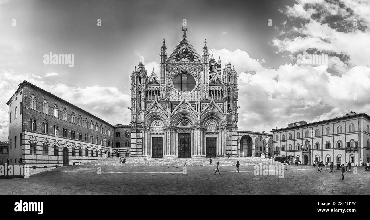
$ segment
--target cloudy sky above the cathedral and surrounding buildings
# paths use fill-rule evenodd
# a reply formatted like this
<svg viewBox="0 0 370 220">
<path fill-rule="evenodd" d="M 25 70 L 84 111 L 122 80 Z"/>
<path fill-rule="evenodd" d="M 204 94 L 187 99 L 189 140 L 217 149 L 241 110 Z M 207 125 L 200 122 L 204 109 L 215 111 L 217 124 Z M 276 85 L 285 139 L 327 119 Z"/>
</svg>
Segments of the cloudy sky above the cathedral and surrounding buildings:
<svg viewBox="0 0 370 220">
<path fill-rule="evenodd" d="M 143 57 L 158 73 L 162 41 L 169 55 L 183 19 L 198 53 L 207 39 L 222 66 L 235 65 L 239 130 L 370 113 L 367 0 L 0 0 L 0 140 L 6 102 L 23 80 L 112 124 L 129 123 L 131 72 Z M 74 54 L 74 67 L 44 64 L 50 52 Z M 327 65 L 299 64 L 304 52 L 327 54 Z"/>
</svg>

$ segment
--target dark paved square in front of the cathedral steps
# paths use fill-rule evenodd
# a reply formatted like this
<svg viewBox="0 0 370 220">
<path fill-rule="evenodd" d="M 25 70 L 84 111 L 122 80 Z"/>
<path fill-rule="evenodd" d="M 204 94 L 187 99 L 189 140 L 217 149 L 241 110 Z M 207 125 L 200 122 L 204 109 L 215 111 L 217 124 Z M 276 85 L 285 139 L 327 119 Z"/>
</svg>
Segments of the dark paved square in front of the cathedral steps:
<svg viewBox="0 0 370 220">
<path fill-rule="evenodd" d="M 354 168 L 354 167 L 353 167 Z M 0 179 L 0 194 L 370 194 L 370 172 L 356 167 L 321 173 L 313 166 L 288 166 L 284 177 L 255 176 L 253 166 L 145 167 L 80 165 L 38 173 L 29 179 Z M 353 169 L 352 169 L 353 170 Z"/>
</svg>

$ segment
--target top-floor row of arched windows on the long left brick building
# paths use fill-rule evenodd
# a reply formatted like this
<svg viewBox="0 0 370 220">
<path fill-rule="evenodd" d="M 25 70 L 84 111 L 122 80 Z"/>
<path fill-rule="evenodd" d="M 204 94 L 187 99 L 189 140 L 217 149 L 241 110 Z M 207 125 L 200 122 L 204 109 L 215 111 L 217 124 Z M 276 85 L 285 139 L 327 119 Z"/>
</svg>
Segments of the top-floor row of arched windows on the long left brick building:
<svg viewBox="0 0 370 220">
<path fill-rule="evenodd" d="M 30 96 L 30 108 L 36 110 L 36 105 L 37 105 L 36 97 L 32 94 Z M 42 108 L 43 113 L 48 114 L 48 102 L 46 101 L 46 99 L 44 99 L 44 101 L 42 102 L 42 105 L 43 105 L 43 108 Z M 53 106 L 53 116 L 59 118 L 59 108 L 58 108 L 57 104 L 54 104 L 54 106 Z M 76 123 L 75 118 L 76 118 L 76 116 L 75 116 L 74 112 L 72 112 L 72 114 L 71 114 L 71 122 L 72 123 Z M 63 119 L 65 121 L 68 121 L 68 112 L 67 112 L 67 109 L 65 109 L 65 108 L 63 109 Z M 82 119 L 81 115 L 78 116 L 78 125 L 83 126 L 83 119 Z M 85 118 L 85 120 L 84 120 L 84 126 L 86 128 L 88 128 L 87 118 Z M 95 130 L 95 131 L 100 131 L 101 133 L 105 133 L 106 135 L 111 136 L 110 128 L 108 128 L 108 130 L 107 130 L 107 127 L 103 128 L 102 125 L 100 125 L 100 127 L 99 127 L 98 123 L 95 123 L 95 128 L 94 128 L 94 123 L 92 122 L 92 120 L 90 121 L 90 129 Z"/>
</svg>

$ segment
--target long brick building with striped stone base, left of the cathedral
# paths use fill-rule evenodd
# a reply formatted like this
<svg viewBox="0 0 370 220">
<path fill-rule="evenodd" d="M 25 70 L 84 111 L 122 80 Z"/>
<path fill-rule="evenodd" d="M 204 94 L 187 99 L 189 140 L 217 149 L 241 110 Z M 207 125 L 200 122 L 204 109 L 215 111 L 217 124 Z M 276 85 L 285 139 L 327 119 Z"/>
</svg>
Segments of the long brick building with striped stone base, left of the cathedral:
<svg viewBox="0 0 370 220">
<path fill-rule="evenodd" d="M 131 155 L 131 125 L 111 125 L 27 81 L 7 105 L 9 165 L 29 165 L 30 174 L 96 160 L 104 147 L 107 157 Z"/>
</svg>

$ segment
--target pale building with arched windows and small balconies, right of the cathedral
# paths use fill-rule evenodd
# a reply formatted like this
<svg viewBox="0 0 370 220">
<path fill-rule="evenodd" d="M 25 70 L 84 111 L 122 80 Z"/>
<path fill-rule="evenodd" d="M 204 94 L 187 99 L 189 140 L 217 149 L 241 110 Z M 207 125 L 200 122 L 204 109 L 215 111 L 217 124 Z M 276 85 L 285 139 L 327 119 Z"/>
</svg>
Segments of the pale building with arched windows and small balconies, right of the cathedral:
<svg viewBox="0 0 370 220">
<path fill-rule="evenodd" d="M 293 156 L 303 164 L 351 162 L 354 166 L 370 161 L 370 116 L 365 113 L 349 112 L 324 121 L 290 123 L 271 132 L 273 158 Z"/>
</svg>

